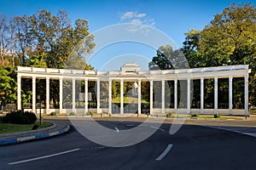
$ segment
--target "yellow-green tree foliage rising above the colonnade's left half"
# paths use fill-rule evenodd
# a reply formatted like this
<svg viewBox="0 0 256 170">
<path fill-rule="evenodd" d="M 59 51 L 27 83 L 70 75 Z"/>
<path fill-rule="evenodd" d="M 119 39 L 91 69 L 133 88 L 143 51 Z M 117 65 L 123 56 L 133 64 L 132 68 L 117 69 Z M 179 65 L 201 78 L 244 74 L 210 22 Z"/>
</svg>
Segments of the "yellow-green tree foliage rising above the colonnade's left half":
<svg viewBox="0 0 256 170">
<path fill-rule="evenodd" d="M 23 65 L 91 69 L 83 59 L 95 47 L 87 20 L 72 24 L 66 11 L 54 15 L 40 9 L 37 14 L 15 17 L 13 23 Z"/>
</svg>

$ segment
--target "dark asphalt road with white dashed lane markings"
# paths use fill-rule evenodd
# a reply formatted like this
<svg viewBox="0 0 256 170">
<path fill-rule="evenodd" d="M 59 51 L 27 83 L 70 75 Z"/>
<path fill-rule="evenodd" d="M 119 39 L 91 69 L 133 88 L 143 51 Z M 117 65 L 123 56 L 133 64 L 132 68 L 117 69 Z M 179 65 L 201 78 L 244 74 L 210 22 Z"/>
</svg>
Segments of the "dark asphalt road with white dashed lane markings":
<svg viewBox="0 0 256 170">
<path fill-rule="evenodd" d="M 140 124 L 103 120 L 103 126 L 117 131 Z M 205 126 L 234 122 L 198 122 L 204 126 L 187 121 L 173 135 L 165 122 L 143 142 L 120 148 L 95 144 L 72 127 L 61 136 L 1 146 L 0 169 L 256 169 L 256 138 Z"/>
</svg>

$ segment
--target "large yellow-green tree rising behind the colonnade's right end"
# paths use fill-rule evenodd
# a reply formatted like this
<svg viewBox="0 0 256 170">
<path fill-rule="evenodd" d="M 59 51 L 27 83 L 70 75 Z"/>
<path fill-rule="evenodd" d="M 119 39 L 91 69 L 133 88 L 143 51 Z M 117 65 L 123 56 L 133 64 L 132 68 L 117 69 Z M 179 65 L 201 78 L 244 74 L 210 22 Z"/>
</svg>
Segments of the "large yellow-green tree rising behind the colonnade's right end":
<svg viewBox="0 0 256 170">
<path fill-rule="evenodd" d="M 235 4 L 224 8 L 221 14 L 201 32 L 198 55 L 203 66 L 249 65 L 249 100 L 256 105 L 256 8 L 251 3 Z M 234 82 L 235 94 L 240 92 L 242 80 Z M 237 84 L 237 85 L 236 85 Z M 234 103 L 241 102 L 241 95 L 234 96 Z"/>
</svg>

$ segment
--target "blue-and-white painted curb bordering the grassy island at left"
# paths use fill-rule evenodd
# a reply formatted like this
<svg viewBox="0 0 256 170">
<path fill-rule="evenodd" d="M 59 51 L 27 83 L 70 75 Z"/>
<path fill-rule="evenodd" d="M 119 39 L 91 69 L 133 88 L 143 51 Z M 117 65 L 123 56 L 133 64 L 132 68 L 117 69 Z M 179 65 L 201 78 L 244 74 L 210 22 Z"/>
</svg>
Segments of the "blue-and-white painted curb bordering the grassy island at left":
<svg viewBox="0 0 256 170">
<path fill-rule="evenodd" d="M 14 139 L 0 139 L 0 145 L 16 144 L 16 143 L 25 142 L 25 141 L 28 141 L 28 140 L 33 140 L 33 139 L 49 138 L 51 136 L 59 135 L 59 134 L 62 134 L 62 133 L 67 133 L 69 131 L 69 129 L 70 129 L 70 126 L 66 125 L 62 129 L 57 130 L 55 132 L 38 133 L 38 134 L 34 134 L 34 135 L 26 136 L 26 137 L 14 138 Z"/>
</svg>

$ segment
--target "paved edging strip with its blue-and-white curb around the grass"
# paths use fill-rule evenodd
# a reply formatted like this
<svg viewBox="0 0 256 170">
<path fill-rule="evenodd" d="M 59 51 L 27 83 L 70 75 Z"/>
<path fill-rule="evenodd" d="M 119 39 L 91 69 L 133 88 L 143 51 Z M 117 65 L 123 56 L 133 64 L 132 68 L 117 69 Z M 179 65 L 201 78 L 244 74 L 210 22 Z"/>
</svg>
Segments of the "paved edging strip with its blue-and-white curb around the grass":
<svg viewBox="0 0 256 170">
<path fill-rule="evenodd" d="M 70 129 L 69 125 L 51 122 L 53 123 L 52 126 L 37 129 L 37 130 L 30 130 L 26 132 L 20 133 L 3 133 L 0 134 L 0 145 L 3 144 L 15 144 L 20 143 L 32 139 L 44 139 L 49 138 L 51 136 L 59 135 L 62 133 L 67 133 Z"/>
</svg>

